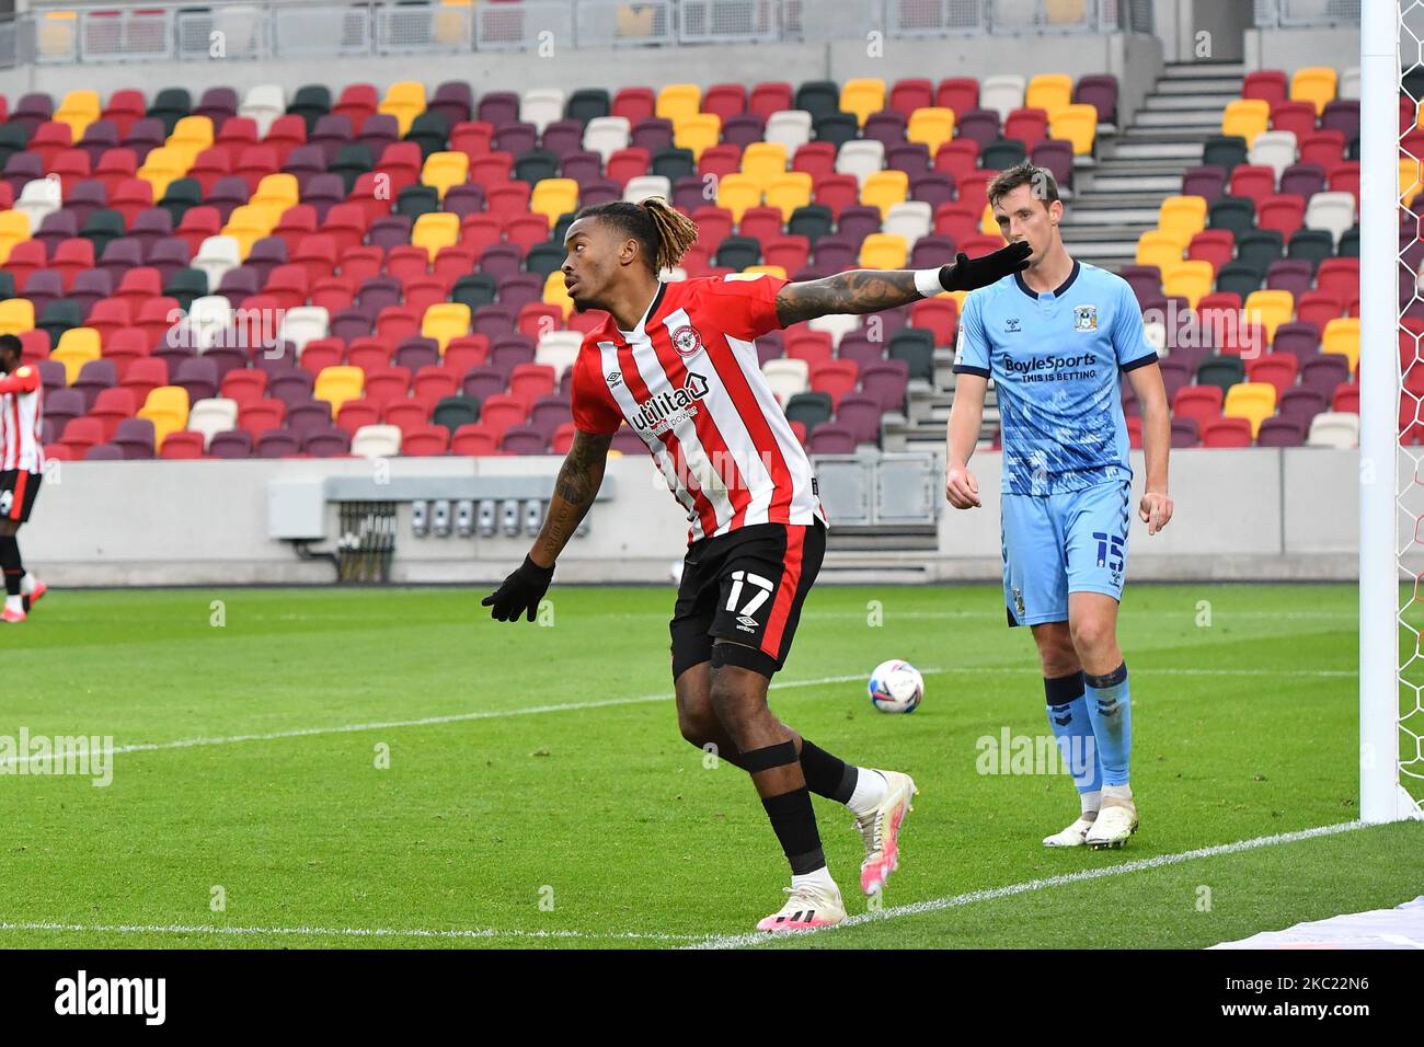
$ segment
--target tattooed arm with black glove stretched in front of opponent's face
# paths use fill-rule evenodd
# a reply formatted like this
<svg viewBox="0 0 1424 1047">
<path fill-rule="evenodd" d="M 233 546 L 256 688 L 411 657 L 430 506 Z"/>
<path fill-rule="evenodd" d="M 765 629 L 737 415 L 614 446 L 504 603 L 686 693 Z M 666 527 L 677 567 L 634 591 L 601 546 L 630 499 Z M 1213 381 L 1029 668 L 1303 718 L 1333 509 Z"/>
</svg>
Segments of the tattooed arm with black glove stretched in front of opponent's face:
<svg viewBox="0 0 1424 1047">
<path fill-rule="evenodd" d="M 836 313 L 866 313 L 909 305 L 941 291 L 974 291 L 1028 265 L 1028 244 L 1010 244 L 991 255 L 964 254 L 938 269 L 847 269 L 819 281 L 787 283 L 776 295 L 783 328 Z"/>
</svg>

